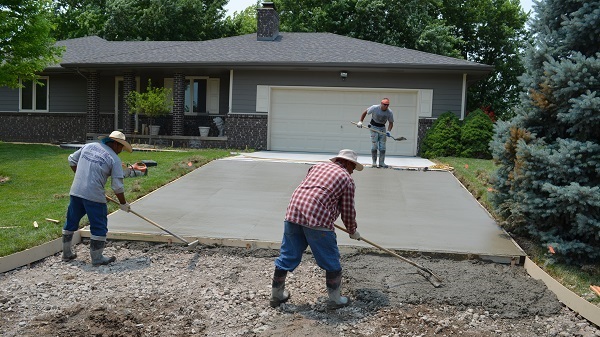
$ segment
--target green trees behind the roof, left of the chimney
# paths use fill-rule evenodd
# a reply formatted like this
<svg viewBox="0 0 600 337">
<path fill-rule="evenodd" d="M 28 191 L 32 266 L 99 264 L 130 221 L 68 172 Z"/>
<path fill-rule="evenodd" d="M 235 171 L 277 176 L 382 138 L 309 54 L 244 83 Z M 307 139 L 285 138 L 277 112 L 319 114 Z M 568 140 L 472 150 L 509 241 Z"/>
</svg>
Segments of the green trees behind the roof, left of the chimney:
<svg viewBox="0 0 600 337">
<path fill-rule="evenodd" d="M 56 0 L 57 39 L 97 35 L 109 41 L 203 41 L 233 31 L 228 0 Z"/>
</svg>

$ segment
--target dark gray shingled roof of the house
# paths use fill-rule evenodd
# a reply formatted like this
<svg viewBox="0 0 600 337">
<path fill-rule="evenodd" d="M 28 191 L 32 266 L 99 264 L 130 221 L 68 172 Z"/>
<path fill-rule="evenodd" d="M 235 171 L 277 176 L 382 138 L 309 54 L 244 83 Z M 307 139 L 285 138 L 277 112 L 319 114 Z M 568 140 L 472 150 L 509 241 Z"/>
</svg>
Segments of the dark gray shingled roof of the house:
<svg viewBox="0 0 600 337">
<path fill-rule="evenodd" d="M 256 34 L 208 41 L 106 41 L 97 36 L 57 42 L 60 66 L 71 67 L 361 67 L 489 72 L 492 66 L 332 33 Z M 57 65 L 58 66 L 58 65 Z"/>
</svg>

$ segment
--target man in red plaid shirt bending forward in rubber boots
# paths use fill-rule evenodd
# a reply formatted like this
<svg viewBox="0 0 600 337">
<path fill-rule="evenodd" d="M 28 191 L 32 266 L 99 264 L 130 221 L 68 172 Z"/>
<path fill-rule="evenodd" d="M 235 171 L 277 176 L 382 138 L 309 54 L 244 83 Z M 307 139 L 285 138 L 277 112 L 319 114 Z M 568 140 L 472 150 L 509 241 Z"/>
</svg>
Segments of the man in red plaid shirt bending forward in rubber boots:
<svg viewBox="0 0 600 337">
<path fill-rule="evenodd" d="M 334 231 L 334 221 L 341 215 L 350 238 L 360 240 L 356 231 L 354 209 L 354 170 L 362 171 L 352 150 L 341 150 L 331 162 L 312 166 L 292 194 L 284 221 L 283 240 L 275 273 L 270 304 L 278 307 L 290 294 L 285 290 L 288 271 L 294 271 L 308 246 L 319 267 L 325 270 L 329 309 L 347 306 L 350 301 L 340 296 L 342 266 Z"/>
</svg>

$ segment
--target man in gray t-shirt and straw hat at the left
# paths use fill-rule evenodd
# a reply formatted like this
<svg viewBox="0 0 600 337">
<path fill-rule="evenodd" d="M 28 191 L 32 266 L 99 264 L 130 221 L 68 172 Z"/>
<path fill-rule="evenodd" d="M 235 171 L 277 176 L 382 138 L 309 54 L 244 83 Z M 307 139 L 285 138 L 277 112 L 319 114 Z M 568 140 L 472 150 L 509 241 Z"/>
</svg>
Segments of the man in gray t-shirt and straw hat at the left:
<svg viewBox="0 0 600 337">
<path fill-rule="evenodd" d="M 129 212 L 131 207 L 125 200 L 123 167 L 118 154 L 123 149 L 132 152 L 131 145 L 121 131 L 113 131 L 109 136 L 98 137 L 99 143 L 84 145 L 69 156 L 69 165 L 75 178 L 71 185 L 67 221 L 63 227 L 63 261 L 77 257 L 71 250 L 73 233 L 79 229 L 79 221 L 84 215 L 90 221 L 90 255 L 92 265 L 106 265 L 116 258 L 102 255 L 108 233 L 108 209 L 104 186 L 111 178 L 111 187 L 119 199 L 121 210 Z"/>
</svg>

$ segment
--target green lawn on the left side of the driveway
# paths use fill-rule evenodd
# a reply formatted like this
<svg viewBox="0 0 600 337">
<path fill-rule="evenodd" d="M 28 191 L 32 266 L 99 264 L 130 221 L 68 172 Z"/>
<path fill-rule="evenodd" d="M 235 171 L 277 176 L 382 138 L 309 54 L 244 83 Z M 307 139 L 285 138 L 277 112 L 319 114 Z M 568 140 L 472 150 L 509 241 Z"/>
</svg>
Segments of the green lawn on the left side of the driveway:
<svg viewBox="0 0 600 337">
<path fill-rule="evenodd" d="M 61 235 L 73 171 L 67 157 L 74 149 L 41 144 L 0 142 L 0 256 L 34 247 Z M 148 175 L 125 178 L 125 196 L 133 201 L 182 175 L 226 157 L 229 150 L 188 150 L 169 152 L 123 152 L 124 163 L 154 160 Z M 114 195 L 107 183 L 107 194 Z M 117 205 L 108 204 L 109 212 Z M 59 220 L 59 224 L 46 221 Z M 35 228 L 33 223 L 38 223 Z M 84 218 L 82 226 L 87 219 Z M 10 228 L 2 228 L 10 227 Z"/>
</svg>

